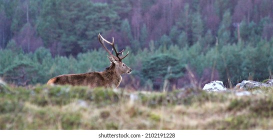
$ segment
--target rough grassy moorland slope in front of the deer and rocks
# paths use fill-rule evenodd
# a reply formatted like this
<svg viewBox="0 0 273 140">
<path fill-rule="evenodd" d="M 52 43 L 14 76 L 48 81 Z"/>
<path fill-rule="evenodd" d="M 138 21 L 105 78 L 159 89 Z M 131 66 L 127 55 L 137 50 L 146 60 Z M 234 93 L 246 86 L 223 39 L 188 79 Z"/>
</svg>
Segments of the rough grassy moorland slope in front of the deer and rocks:
<svg viewBox="0 0 273 140">
<path fill-rule="evenodd" d="M 273 129 L 273 87 L 235 92 L 0 85 L 0 129 Z"/>
</svg>

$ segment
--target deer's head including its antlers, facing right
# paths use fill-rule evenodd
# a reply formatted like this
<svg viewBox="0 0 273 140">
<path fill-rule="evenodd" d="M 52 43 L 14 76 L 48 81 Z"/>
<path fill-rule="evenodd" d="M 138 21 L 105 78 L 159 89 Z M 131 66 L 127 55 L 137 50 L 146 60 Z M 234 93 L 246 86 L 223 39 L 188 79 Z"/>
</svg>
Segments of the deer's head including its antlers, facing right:
<svg viewBox="0 0 273 140">
<path fill-rule="evenodd" d="M 131 73 L 132 69 L 130 67 L 128 67 L 125 63 L 122 62 L 122 59 L 124 59 L 129 51 L 127 52 L 127 54 L 125 56 L 122 56 L 123 54 L 123 50 L 121 50 L 120 52 L 117 52 L 115 46 L 114 46 L 114 39 L 112 37 L 112 42 L 107 41 L 106 39 L 104 39 L 100 33 L 98 34 L 98 41 L 102 44 L 103 48 L 109 53 L 110 56 L 107 55 L 108 59 L 111 62 L 111 65 L 114 66 L 116 72 L 118 74 L 124 74 L 124 73 Z M 112 46 L 112 50 L 109 51 L 106 46 L 104 45 L 104 41 L 108 44 L 110 44 Z M 112 51 L 114 50 L 115 52 L 115 56 L 112 54 Z M 119 56 L 119 54 L 121 54 L 121 56 Z"/>
</svg>

